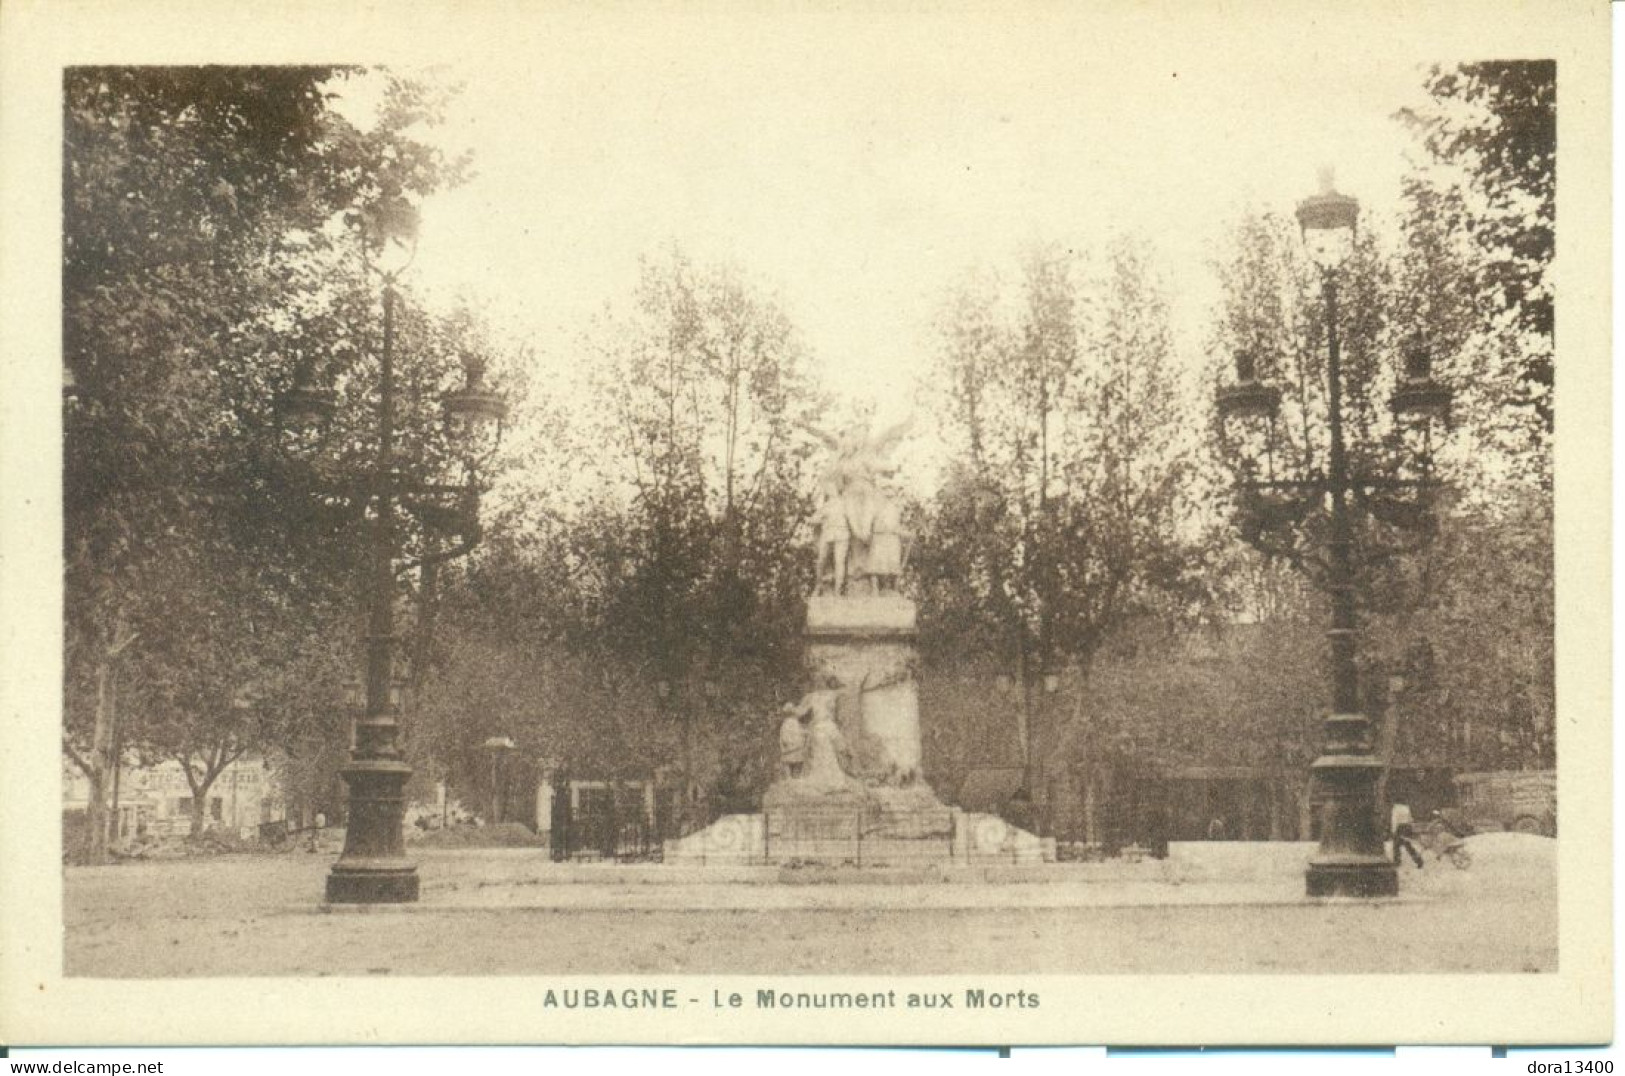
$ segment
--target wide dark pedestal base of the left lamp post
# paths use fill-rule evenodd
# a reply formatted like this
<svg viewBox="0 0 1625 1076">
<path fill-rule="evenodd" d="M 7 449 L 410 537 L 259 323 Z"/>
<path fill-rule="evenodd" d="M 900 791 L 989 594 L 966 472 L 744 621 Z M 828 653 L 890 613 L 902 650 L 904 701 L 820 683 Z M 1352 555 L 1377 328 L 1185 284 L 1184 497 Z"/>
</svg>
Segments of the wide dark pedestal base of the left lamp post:
<svg viewBox="0 0 1625 1076">
<path fill-rule="evenodd" d="M 344 853 L 327 874 L 328 904 L 411 904 L 418 868 L 406 858 L 405 787 L 411 767 L 398 759 L 356 759 L 341 770 L 349 785 Z"/>
</svg>

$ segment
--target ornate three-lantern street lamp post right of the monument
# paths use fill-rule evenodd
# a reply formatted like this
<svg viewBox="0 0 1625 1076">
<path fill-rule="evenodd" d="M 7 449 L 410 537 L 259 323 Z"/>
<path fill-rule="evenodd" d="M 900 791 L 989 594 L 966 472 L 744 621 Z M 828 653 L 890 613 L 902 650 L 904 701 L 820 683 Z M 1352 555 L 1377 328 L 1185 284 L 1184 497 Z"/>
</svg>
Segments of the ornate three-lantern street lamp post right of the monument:
<svg viewBox="0 0 1625 1076">
<path fill-rule="evenodd" d="M 1391 398 L 1401 423 L 1420 423 L 1422 476 L 1375 476 L 1355 473 L 1349 463 L 1344 424 L 1344 367 L 1339 340 L 1339 271 L 1354 250 L 1358 203 L 1332 190 L 1323 174 L 1321 190 L 1297 210 L 1310 258 L 1320 268 L 1321 301 L 1326 315 L 1326 449 L 1324 471 L 1311 470 L 1295 478 L 1276 478 L 1271 447 L 1280 390 L 1264 384 L 1259 356 L 1237 353 L 1237 382 L 1219 390 L 1219 414 L 1227 431 L 1242 429 L 1242 442 L 1264 445 L 1271 471 L 1259 476 L 1250 462 L 1238 483 L 1243 535 L 1266 553 L 1282 553 L 1280 535 L 1292 533 L 1311 514 L 1324 514 L 1323 571 L 1316 582 L 1331 598 L 1331 714 L 1326 717 L 1321 754 L 1310 767 L 1310 782 L 1320 811 L 1320 852 L 1310 860 L 1306 892 L 1326 896 L 1393 896 L 1399 876 L 1383 853 L 1383 829 L 1376 811 L 1376 782 L 1383 761 L 1373 749 L 1372 722 L 1360 709 L 1355 663 L 1358 619 L 1355 613 L 1355 512 L 1383 523 L 1427 530 L 1432 525 L 1428 494 L 1435 488 L 1427 455 L 1428 431 L 1450 411 L 1450 390 L 1430 375 L 1428 353 L 1417 341 L 1407 348 L 1399 387 Z M 1306 401 L 1305 401 L 1306 405 Z M 1259 436 L 1261 434 L 1261 436 Z M 1407 442 L 1412 444 L 1412 442 Z M 1398 496 L 1409 496 L 1406 504 Z"/>
</svg>

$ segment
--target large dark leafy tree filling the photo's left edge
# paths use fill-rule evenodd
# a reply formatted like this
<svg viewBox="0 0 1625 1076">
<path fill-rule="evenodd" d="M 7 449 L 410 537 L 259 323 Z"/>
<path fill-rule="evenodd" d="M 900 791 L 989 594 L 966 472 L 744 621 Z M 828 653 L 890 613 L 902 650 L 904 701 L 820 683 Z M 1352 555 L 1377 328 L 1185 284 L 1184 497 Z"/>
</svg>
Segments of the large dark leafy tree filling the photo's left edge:
<svg viewBox="0 0 1625 1076">
<path fill-rule="evenodd" d="M 366 351 L 344 211 L 410 205 L 453 167 L 403 133 L 421 94 L 388 80 L 384 125 L 364 133 L 332 109 L 340 75 L 65 75 L 63 731 L 91 780 L 93 857 L 130 743 L 120 676 L 132 699 L 176 684 L 164 662 L 195 662 L 177 639 L 208 619 L 214 584 L 252 579 L 294 618 L 348 587 L 351 531 L 336 499 L 307 496 L 315 473 L 286 452 L 276 401 L 327 359 L 343 382 Z M 203 730 L 231 709 L 192 717 Z"/>
</svg>

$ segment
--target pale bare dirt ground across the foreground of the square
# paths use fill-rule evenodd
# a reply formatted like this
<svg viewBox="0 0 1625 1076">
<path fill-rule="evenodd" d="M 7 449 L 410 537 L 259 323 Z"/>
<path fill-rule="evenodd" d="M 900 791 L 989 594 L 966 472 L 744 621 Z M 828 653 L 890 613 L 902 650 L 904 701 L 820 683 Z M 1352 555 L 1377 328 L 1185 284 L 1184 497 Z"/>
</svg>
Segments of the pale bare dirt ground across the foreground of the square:
<svg viewBox="0 0 1625 1076">
<path fill-rule="evenodd" d="M 1393 902 L 1302 899 L 1300 845 L 1020 881 L 795 886 L 535 852 L 421 852 L 410 909 L 323 910 L 328 855 L 65 878 L 65 972 L 88 977 L 543 974 L 1549 972 L 1555 842 L 1472 839 Z"/>
</svg>

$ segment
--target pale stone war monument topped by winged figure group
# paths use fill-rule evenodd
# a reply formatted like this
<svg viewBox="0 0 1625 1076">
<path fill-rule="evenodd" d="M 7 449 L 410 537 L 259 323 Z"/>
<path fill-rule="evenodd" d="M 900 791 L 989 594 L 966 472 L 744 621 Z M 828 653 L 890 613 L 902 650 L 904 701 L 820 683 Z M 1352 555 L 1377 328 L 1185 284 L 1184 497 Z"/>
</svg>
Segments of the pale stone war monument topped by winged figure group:
<svg viewBox="0 0 1625 1076">
<path fill-rule="evenodd" d="M 778 772 L 757 814 L 670 840 L 671 863 L 1038 863 L 1042 840 L 959 811 L 921 775 L 916 608 L 900 588 L 908 536 L 886 489 L 910 423 L 838 437 L 819 483 L 817 587 L 808 598 L 808 684 L 772 715 Z"/>
</svg>

